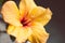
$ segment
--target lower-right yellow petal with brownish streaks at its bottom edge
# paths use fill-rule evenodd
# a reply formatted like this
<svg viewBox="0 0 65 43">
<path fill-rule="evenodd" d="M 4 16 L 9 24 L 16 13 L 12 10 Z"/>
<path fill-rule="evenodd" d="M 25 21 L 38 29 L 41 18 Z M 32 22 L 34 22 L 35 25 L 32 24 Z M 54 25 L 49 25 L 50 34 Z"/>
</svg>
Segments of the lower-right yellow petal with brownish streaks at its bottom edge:
<svg viewBox="0 0 65 43">
<path fill-rule="evenodd" d="M 31 43 L 46 43 L 49 38 L 49 33 L 47 33 L 43 26 L 40 23 L 34 23 L 31 28 L 32 34 L 28 38 L 28 40 Z"/>
</svg>

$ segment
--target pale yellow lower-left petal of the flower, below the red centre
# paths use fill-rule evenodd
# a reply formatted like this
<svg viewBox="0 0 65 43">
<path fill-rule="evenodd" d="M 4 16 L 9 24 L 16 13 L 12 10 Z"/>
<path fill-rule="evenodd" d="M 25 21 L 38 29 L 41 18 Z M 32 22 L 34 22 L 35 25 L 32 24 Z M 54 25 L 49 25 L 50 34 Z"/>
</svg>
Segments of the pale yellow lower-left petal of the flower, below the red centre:
<svg viewBox="0 0 65 43">
<path fill-rule="evenodd" d="M 8 33 L 15 37 L 17 42 L 25 42 L 31 34 L 31 29 L 29 27 L 15 27 L 10 25 Z"/>
</svg>

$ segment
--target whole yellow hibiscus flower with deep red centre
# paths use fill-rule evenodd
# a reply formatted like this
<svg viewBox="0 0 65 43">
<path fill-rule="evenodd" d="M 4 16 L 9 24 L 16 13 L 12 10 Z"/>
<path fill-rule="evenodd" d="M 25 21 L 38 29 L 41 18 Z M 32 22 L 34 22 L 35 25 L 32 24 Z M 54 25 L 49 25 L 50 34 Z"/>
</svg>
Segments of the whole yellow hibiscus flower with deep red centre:
<svg viewBox="0 0 65 43">
<path fill-rule="evenodd" d="M 49 33 L 44 26 L 52 16 L 50 9 L 38 6 L 34 0 L 21 0 L 20 8 L 14 1 L 6 1 L 1 10 L 3 19 L 9 24 L 8 33 L 20 43 L 47 43 Z"/>
</svg>

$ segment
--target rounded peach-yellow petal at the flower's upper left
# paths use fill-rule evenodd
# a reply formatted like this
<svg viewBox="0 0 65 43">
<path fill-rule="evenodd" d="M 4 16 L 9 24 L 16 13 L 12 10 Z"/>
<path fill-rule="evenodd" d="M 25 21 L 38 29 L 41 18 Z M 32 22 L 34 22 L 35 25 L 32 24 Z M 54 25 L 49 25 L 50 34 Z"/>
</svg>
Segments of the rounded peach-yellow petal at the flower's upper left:
<svg viewBox="0 0 65 43">
<path fill-rule="evenodd" d="M 4 22 L 14 25 L 22 26 L 20 22 L 20 11 L 14 1 L 6 1 L 1 11 Z"/>
</svg>

